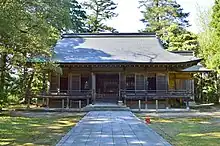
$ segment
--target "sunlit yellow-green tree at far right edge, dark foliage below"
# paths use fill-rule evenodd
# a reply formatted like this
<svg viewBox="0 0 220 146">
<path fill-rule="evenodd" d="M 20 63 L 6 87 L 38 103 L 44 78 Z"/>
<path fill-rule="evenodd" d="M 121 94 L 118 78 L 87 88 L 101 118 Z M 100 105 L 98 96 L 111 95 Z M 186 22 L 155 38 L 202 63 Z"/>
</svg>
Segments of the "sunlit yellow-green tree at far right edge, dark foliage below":
<svg viewBox="0 0 220 146">
<path fill-rule="evenodd" d="M 212 26 L 213 22 L 212 11 L 198 8 L 198 24 L 200 32 L 198 33 L 198 56 L 203 58 L 203 65 L 213 69 L 212 73 L 207 76 L 199 76 L 197 79 L 197 87 L 202 95 L 201 102 L 219 102 L 219 73 L 220 73 L 220 42 L 218 31 Z M 203 83 L 201 85 L 201 83 Z"/>
</svg>

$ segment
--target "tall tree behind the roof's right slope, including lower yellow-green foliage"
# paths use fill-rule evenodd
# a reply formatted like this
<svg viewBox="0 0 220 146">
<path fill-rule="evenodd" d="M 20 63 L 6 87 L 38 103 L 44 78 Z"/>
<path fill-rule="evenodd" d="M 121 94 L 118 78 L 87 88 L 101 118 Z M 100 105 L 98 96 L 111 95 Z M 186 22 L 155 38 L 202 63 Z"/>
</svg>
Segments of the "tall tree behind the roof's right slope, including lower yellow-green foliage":
<svg viewBox="0 0 220 146">
<path fill-rule="evenodd" d="M 196 50 L 196 36 L 185 28 L 187 17 L 176 0 L 141 0 L 140 8 L 146 28 L 142 32 L 156 32 L 166 49 Z"/>
</svg>

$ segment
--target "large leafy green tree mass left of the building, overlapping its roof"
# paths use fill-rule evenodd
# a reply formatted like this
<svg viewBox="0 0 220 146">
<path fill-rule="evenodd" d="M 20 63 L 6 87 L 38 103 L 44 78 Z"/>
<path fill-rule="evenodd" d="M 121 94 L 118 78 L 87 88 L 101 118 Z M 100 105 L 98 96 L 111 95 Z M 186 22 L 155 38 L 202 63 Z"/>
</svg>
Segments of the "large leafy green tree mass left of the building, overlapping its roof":
<svg viewBox="0 0 220 146">
<path fill-rule="evenodd" d="M 44 62 L 52 56 L 51 48 L 60 33 L 81 31 L 85 12 L 75 0 L 3 0 L 0 9 L 1 105 L 13 91 L 30 94 L 32 81 L 45 70 Z M 39 57 L 43 65 L 30 63 Z"/>
</svg>

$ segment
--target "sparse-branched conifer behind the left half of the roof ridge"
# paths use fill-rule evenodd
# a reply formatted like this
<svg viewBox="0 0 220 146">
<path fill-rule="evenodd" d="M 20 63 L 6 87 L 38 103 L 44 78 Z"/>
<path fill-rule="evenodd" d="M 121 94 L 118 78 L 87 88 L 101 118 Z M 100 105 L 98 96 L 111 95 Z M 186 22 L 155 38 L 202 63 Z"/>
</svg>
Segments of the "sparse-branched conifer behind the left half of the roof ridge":
<svg viewBox="0 0 220 146">
<path fill-rule="evenodd" d="M 83 3 L 83 6 L 88 10 L 86 22 L 88 32 L 116 31 L 105 24 L 105 21 L 117 17 L 114 12 L 117 8 L 116 3 L 112 0 L 88 0 Z"/>
</svg>

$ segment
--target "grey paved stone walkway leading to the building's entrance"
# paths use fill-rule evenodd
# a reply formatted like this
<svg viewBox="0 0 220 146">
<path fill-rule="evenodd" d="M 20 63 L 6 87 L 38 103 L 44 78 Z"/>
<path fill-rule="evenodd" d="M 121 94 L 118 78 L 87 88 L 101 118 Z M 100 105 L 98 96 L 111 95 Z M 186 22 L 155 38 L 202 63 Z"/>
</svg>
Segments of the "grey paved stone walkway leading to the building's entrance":
<svg viewBox="0 0 220 146">
<path fill-rule="evenodd" d="M 129 111 L 89 112 L 57 146 L 170 146 Z"/>
</svg>

